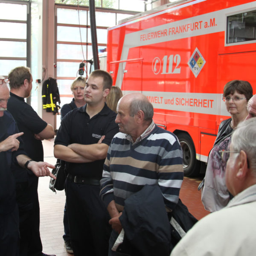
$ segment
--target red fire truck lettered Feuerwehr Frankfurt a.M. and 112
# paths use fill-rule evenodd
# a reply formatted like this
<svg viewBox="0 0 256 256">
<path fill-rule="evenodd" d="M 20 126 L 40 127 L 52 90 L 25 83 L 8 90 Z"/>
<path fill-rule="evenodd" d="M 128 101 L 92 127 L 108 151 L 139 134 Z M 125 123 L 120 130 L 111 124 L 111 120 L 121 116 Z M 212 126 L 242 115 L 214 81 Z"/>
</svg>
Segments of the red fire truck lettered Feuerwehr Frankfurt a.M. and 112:
<svg viewBox="0 0 256 256">
<path fill-rule="evenodd" d="M 109 28 L 107 51 L 114 85 L 148 97 L 154 122 L 180 140 L 185 175 L 195 175 L 230 117 L 224 85 L 247 80 L 256 92 L 256 1 L 169 3 Z"/>
</svg>

